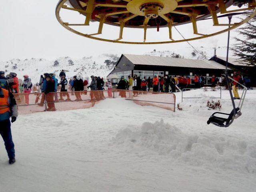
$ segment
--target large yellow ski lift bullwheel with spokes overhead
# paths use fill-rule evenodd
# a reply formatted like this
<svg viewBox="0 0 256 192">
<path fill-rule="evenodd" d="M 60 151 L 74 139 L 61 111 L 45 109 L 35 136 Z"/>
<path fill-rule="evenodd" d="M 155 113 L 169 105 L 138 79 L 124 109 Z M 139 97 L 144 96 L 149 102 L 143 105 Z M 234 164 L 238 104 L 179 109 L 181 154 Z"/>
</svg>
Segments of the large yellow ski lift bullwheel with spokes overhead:
<svg viewBox="0 0 256 192">
<path fill-rule="evenodd" d="M 230 6 L 238 9 L 227 10 Z M 241 6 L 243 6 L 241 8 Z M 106 42 L 125 44 L 164 44 L 202 39 L 232 30 L 256 15 L 256 0 L 60 0 L 56 7 L 56 18 L 64 28 L 80 36 Z M 60 10 L 73 11 L 84 15 L 84 22 L 70 23 L 62 20 Z M 251 14 L 238 23 L 219 23 L 217 14 L 227 14 L 245 10 L 252 10 Z M 208 34 L 198 31 L 200 20 L 212 17 L 213 27 L 226 26 L 225 29 Z M 90 22 L 99 22 L 95 33 L 88 34 L 74 29 L 74 26 L 89 26 Z M 172 26 L 192 23 L 191 33 L 196 37 L 185 39 L 172 38 Z M 100 38 L 104 24 L 117 26 L 119 36 L 115 39 Z M 228 28 L 228 26 L 230 26 Z M 72 28 L 73 27 L 73 28 Z M 154 42 L 146 40 L 148 28 L 168 28 L 166 41 L 158 40 L 156 34 Z M 140 42 L 122 41 L 124 28 L 141 28 L 144 35 Z M 156 30 L 156 32 L 157 32 Z M 106 34 L 108 35 L 108 34 Z"/>
</svg>

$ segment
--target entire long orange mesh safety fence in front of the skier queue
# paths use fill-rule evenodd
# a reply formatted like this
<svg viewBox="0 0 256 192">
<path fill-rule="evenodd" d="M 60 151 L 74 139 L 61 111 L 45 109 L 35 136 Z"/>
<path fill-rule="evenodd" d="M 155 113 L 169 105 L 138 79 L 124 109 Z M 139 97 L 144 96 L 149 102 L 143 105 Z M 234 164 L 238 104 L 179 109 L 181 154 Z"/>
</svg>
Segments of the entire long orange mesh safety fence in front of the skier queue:
<svg viewBox="0 0 256 192">
<path fill-rule="evenodd" d="M 19 114 L 64 111 L 93 107 L 106 98 L 125 98 L 142 106 L 157 106 L 175 111 L 175 95 L 171 93 L 128 90 L 14 94 Z"/>
</svg>

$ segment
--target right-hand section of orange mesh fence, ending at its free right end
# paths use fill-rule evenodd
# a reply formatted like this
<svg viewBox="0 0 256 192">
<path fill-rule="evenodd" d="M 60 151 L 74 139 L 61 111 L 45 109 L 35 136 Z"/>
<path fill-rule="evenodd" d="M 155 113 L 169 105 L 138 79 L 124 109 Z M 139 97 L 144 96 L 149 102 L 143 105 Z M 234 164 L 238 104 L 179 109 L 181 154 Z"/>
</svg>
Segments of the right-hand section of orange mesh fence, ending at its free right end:
<svg viewBox="0 0 256 192">
<path fill-rule="evenodd" d="M 173 93 L 114 90 L 114 98 L 122 97 L 142 106 L 156 106 L 175 112 L 176 96 Z"/>
</svg>

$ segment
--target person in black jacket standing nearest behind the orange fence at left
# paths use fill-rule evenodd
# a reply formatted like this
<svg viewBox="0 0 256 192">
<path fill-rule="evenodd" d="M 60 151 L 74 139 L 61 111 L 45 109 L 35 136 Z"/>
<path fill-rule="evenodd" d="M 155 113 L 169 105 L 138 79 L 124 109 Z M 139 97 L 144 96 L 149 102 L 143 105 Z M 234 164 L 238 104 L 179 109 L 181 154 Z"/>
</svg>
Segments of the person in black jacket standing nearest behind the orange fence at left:
<svg viewBox="0 0 256 192">
<path fill-rule="evenodd" d="M 44 91 L 46 102 L 48 105 L 47 111 L 56 111 L 54 105 L 54 90 L 55 90 L 55 82 L 52 77 L 49 75 L 46 77 L 46 89 Z"/>
</svg>

